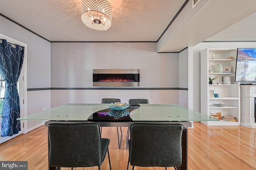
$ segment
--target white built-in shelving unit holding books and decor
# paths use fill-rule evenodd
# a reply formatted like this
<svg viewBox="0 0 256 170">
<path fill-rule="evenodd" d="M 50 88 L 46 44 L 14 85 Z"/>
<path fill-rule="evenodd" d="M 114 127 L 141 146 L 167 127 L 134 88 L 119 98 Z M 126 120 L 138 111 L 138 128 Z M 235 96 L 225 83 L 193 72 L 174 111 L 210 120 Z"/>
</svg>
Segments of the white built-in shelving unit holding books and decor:
<svg viewBox="0 0 256 170">
<path fill-rule="evenodd" d="M 236 53 L 237 49 L 204 49 L 201 51 L 201 113 L 208 116 L 211 116 L 211 113 L 221 113 L 222 117 L 232 116 L 237 119 L 237 122 L 202 121 L 206 125 L 240 125 L 240 83 L 234 82 Z M 212 56 L 214 59 L 211 59 Z M 228 57 L 232 57 L 232 59 L 228 59 Z M 216 71 L 218 63 L 221 63 L 222 67 L 231 66 L 230 73 Z M 222 80 L 224 76 L 230 76 L 230 84 L 224 84 Z M 218 78 L 213 81 L 213 84 L 209 84 L 209 77 Z M 212 91 L 219 97 L 210 95 Z M 222 103 L 226 106 L 218 107 L 214 103 Z"/>
</svg>

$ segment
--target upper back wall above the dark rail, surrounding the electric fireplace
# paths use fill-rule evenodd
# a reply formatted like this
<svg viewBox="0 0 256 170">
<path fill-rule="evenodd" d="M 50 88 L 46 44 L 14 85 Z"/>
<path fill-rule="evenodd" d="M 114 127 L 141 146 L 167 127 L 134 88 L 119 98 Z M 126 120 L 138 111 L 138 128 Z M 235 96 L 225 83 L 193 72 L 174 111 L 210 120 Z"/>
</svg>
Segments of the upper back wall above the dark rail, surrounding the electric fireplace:
<svg viewBox="0 0 256 170">
<path fill-rule="evenodd" d="M 51 43 L 51 87 L 92 87 L 92 69 L 140 69 L 140 87 L 178 87 L 178 53 L 156 43 Z"/>
</svg>

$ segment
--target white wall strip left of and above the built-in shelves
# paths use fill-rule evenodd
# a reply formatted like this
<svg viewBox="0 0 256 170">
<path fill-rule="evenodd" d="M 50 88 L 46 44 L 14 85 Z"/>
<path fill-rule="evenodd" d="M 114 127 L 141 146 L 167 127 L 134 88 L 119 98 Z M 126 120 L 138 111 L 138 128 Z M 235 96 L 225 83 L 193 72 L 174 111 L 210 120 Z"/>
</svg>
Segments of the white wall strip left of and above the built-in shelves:
<svg viewBox="0 0 256 170">
<path fill-rule="evenodd" d="M 255 48 L 256 42 L 203 42 L 193 47 L 193 110 L 200 112 L 200 51 L 206 48 Z"/>
</svg>

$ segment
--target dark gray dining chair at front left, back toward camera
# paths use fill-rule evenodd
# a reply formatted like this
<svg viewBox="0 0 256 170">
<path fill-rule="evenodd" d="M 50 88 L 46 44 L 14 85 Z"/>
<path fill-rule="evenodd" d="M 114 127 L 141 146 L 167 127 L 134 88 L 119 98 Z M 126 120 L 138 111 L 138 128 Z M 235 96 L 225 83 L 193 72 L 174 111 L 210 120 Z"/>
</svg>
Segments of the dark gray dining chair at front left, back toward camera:
<svg viewBox="0 0 256 170">
<path fill-rule="evenodd" d="M 108 152 L 107 138 L 101 138 L 98 123 L 51 123 L 48 125 L 51 167 L 102 165 Z M 108 152 L 109 166 L 111 170 Z"/>
</svg>

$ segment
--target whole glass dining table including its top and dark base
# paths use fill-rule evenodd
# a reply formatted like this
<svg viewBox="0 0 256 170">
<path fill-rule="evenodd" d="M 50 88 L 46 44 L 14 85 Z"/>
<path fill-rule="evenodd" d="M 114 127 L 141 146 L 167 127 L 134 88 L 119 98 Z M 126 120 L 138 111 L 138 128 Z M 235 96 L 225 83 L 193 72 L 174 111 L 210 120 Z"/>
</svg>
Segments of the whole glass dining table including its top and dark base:
<svg viewBox="0 0 256 170">
<path fill-rule="evenodd" d="M 192 121 L 219 121 L 202 113 L 176 104 L 138 104 L 124 110 L 112 110 L 108 104 L 69 103 L 35 113 L 18 120 L 44 120 L 50 123 L 97 122 L 102 127 L 130 127 L 133 123 L 179 123 L 184 126 L 182 133 L 182 166 L 187 165 L 187 128 Z M 56 169 L 49 165 L 49 170 Z"/>
</svg>

